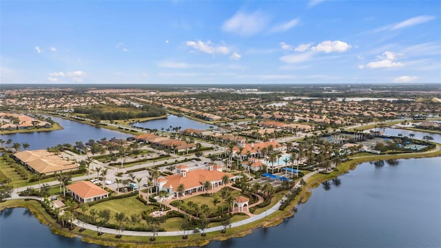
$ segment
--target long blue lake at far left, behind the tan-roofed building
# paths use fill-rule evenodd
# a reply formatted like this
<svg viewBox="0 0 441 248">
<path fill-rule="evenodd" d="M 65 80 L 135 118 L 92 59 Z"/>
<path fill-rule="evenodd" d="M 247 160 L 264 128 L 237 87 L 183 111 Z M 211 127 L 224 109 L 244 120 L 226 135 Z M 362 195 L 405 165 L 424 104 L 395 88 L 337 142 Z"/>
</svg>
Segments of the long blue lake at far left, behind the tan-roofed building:
<svg viewBox="0 0 441 248">
<path fill-rule="evenodd" d="M 28 143 L 29 149 L 46 149 L 58 144 L 69 143 L 74 145 L 76 141 L 88 142 L 90 139 L 96 141 L 101 138 L 127 138 L 132 136 L 123 132 L 114 130 L 107 130 L 101 127 L 94 127 L 79 123 L 76 121 L 69 121 L 63 118 L 52 117 L 52 120 L 59 123 L 63 130 L 55 130 L 50 132 L 30 132 L 30 133 L 18 133 L 18 134 L 1 134 L 0 138 L 3 141 L 12 139 L 12 143 Z M 5 144 L 6 145 L 6 144 Z"/>
</svg>

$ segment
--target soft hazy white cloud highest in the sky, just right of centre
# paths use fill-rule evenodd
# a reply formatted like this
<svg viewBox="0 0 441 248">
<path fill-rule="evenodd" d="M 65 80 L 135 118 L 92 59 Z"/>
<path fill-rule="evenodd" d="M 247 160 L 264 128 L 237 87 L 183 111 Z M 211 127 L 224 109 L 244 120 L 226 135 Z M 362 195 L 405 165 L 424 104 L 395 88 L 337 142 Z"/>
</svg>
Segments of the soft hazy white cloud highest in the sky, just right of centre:
<svg viewBox="0 0 441 248">
<path fill-rule="evenodd" d="M 222 30 L 249 37 L 262 31 L 267 23 L 268 18 L 259 11 L 252 13 L 239 11 L 223 23 Z"/>
</svg>

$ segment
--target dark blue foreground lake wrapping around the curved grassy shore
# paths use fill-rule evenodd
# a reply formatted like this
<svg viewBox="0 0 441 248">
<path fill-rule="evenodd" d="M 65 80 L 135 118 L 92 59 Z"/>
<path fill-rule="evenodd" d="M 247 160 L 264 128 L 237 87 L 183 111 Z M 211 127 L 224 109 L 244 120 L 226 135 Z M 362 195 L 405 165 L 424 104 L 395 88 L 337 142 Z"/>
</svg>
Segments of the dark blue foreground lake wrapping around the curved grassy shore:
<svg viewBox="0 0 441 248">
<path fill-rule="evenodd" d="M 441 247 L 440 165 L 440 157 L 362 163 L 340 185 L 313 189 L 282 224 L 207 247 Z M 31 247 L 29 240 L 32 247 L 43 247 L 41 240 L 44 247 L 90 247 L 51 234 L 25 209 L 0 212 L 0 235 L 0 247 Z"/>
</svg>

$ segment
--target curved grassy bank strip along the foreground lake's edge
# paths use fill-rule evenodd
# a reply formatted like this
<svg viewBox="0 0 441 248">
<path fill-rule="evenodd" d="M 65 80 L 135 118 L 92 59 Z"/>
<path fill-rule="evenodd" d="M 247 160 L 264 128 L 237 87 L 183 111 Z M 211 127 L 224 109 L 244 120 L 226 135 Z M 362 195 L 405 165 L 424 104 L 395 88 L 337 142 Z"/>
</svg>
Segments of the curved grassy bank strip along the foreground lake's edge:
<svg viewBox="0 0 441 248">
<path fill-rule="evenodd" d="M 188 246 L 201 246 L 207 245 L 213 240 L 227 240 L 229 238 L 238 238 L 252 234 L 254 229 L 260 227 L 274 227 L 279 225 L 285 220 L 294 215 L 295 207 L 300 203 L 305 203 L 309 196 L 311 196 L 311 189 L 314 189 L 320 185 L 320 183 L 332 178 L 347 174 L 351 170 L 356 169 L 360 163 L 366 163 L 369 161 L 378 161 L 385 159 L 406 159 L 406 158 L 429 158 L 441 156 L 441 145 L 435 143 L 435 149 L 422 153 L 414 154 L 393 154 L 393 155 L 369 155 L 359 158 L 353 158 L 350 161 L 342 163 L 338 167 L 338 171 L 333 171 L 330 174 L 314 174 L 310 178 L 307 178 L 307 184 L 302 187 L 300 194 L 292 200 L 289 206 L 283 210 L 277 210 L 273 214 L 256 220 L 255 222 L 248 223 L 246 225 L 240 225 L 238 227 L 232 227 L 227 229 L 226 234 L 221 234 L 220 231 L 206 232 L 207 236 L 202 237 L 199 234 L 189 234 L 187 240 L 182 239 L 182 235 L 178 236 L 156 236 L 156 241 L 150 241 L 150 236 L 123 236 L 123 238 L 115 238 L 113 234 L 103 234 L 102 236 L 96 236 L 96 231 L 84 230 L 79 231 L 81 228 L 74 228 L 72 231 L 65 231 L 58 227 L 57 222 L 37 203 L 32 200 L 34 204 L 26 204 L 30 200 L 6 200 L 5 203 L 0 203 L 0 211 L 8 207 L 27 207 L 32 214 L 44 225 L 49 225 L 52 234 L 67 236 L 68 238 L 79 237 L 83 242 L 90 242 L 99 245 L 106 246 L 130 246 L 130 247 L 150 247 L 151 245 L 158 245 L 159 247 L 188 247 Z M 12 201 L 12 202 L 11 202 Z M 10 204 L 8 203 L 10 202 Z M 276 205 L 278 205 L 276 203 Z M 281 218 L 280 218 L 281 217 Z M 98 238 L 101 237 L 101 238 Z"/>
</svg>

